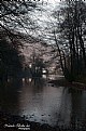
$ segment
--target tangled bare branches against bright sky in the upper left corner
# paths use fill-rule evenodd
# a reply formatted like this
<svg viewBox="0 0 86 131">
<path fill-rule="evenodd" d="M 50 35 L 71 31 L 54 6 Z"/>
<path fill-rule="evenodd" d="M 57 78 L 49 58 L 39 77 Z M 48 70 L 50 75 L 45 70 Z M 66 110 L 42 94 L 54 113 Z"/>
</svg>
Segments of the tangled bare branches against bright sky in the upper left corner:
<svg viewBox="0 0 86 131">
<path fill-rule="evenodd" d="M 0 1 L 0 26 L 10 29 L 31 28 L 33 22 L 29 12 L 35 6 L 37 2 L 30 0 Z"/>
</svg>

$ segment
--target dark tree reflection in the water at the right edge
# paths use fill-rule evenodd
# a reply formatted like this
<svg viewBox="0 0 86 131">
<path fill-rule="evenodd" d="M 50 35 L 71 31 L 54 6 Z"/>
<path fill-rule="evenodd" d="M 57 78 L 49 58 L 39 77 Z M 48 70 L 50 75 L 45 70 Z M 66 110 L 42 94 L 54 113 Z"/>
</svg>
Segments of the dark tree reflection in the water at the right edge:
<svg viewBox="0 0 86 131">
<path fill-rule="evenodd" d="M 86 127 L 86 91 L 71 91 L 71 125 L 73 128 Z"/>
</svg>

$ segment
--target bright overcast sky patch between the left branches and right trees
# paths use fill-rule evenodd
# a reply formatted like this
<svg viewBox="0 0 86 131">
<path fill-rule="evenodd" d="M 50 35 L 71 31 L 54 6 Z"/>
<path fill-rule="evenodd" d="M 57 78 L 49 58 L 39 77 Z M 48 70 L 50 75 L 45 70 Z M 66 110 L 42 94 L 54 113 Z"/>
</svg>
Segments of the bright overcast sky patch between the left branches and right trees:
<svg viewBox="0 0 86 131">
<path fill-rule="evenodd" d="M 28 35 L 31 35 L 37 38 L 39 37 L 47 41 L 49 37 L 48 29 L 52 26 L 54 28 L 55 24 L 55 18 L 52 14 L 54 10 L 59 10 L 59 2 L 60 0 L 40 0 L 37 2 L 38 8 L 33 9 L 32 11 L 29 11 L 28 14 L 24 16 L 25 22 L 27 21 L 26 18 L 30 17 L 35 23 L 35 27 L 38 26 L 38 28 L 31 30 L 29 29 L 30 25 L 28 22 L 28 24 L 25 25 Z M 16 30 L 19 30 L 20 32 L 26 32 L 26 30 L 19 26 L 17 26 Z"/>
</svg>

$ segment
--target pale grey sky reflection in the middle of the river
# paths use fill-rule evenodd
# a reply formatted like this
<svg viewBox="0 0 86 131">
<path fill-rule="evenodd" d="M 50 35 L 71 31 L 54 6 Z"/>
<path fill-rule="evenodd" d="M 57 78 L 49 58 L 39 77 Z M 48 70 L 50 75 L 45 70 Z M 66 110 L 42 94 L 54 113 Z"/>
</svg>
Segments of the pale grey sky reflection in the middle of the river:
<svg viewBox="0 0 86 131">
<path fill-rule="evenodd" d="M 62 95 L 62 88 L 53 88 L 44 83 L 43 80 L 32 80 L 30 87 L 23 87 L 19 95 L 19 107 L 23 109 L 22 115 L 27 115 L 29 120 L 47 122 L 55 125 Z"/>
</svg>

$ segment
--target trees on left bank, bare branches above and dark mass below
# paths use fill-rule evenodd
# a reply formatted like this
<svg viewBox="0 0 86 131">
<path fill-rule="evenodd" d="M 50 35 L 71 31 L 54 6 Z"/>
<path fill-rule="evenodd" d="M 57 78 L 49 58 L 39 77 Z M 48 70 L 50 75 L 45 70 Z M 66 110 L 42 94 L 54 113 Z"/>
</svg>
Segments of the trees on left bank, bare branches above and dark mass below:
<svg viewBox="0 0 86 131">
<path fill-rule="evenodd" d="M 23 76 L 25 60 L 20 55 L 20 39 L 25 37 L 19 30 L 32 28 L 34 22 L 29 17 L 29 12 L 35 6 L 37 2 L 31 0 L 0 1 L 0 82 Z"/>
</svg>

